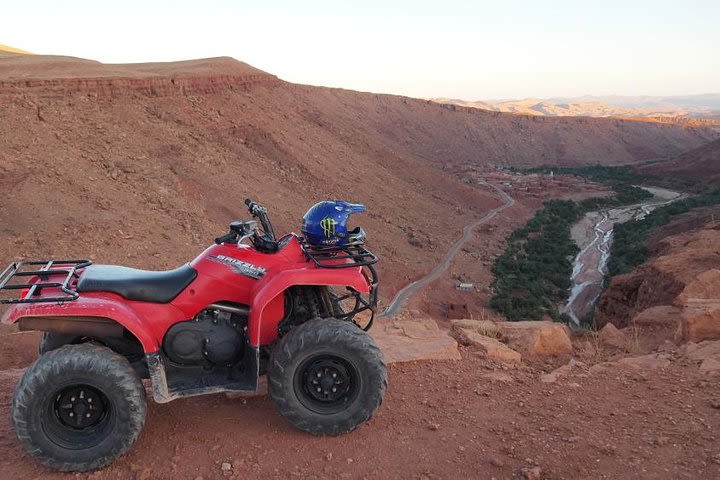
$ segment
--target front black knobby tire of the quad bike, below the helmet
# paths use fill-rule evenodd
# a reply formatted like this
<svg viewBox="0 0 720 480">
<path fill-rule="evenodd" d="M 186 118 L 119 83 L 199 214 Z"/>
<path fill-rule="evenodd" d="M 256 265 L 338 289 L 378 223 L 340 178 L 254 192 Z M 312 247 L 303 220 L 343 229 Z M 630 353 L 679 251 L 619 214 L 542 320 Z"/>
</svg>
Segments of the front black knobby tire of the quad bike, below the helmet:
<svg viewBox="0 0 720 480">
<path fill-rule="evenodd" d="M 280 415 L 295 427 L 340 435 L 367 421 L 380 406 L 387 368 L 372 337 L 357 325 L 315 319 L 277 343 L 268 388 Z"/>
</svg>

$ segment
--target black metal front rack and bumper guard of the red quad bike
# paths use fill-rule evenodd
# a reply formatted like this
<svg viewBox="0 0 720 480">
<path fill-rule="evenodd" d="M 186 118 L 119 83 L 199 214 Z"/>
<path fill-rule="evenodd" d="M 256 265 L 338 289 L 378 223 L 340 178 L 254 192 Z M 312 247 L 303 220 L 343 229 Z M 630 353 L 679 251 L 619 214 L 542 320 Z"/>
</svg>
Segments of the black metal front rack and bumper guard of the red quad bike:
<svg viewBox="0 0 720 480">
<path fill-rule="evenodd" d="M 335 316 L 337 318 L 354 322 L 358 327 L 362 328 L 366 332 L 370 330 L 373 321 L 375 320 L 375 310 L 377 309 L 378 302 L 378 275 L 375 267 L 373 266 L 378 262 L 378 258 L 375 254 L 365 248 L 365 246 L 361 243 L 345 245 L 342 247 L 319 247 L 309 245 L 305 242 L 302 242 L 301 245 L 305 255 L 319 268 L 363 268 L 363 275 L 370 285 L 369 295 L 363 296 L 362 293 L 358 292 L 354 288 L 347 287 L 348 292 L 345 295 L 337 295 L 335 300 L 338 305 L 342 305 L 346 300 L 351 299 L 351 301 L 354 301 L 354 305 L 352 309 L 343 309 L 344 311 L 342 313 L 336 312 Z M 370 311 L 370 319 L 365 326 L 362 326 L 355 321 L 355 316 L 366 310 Z"/>
</svg>

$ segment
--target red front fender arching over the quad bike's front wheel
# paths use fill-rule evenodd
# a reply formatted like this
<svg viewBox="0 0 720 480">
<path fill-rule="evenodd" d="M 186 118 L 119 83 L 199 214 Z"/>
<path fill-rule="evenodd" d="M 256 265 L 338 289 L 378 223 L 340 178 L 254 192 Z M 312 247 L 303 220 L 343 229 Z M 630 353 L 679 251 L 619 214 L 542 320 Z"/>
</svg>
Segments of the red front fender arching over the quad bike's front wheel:
<svg viewBox="0 0 720 480">
<path fill-rule="evenodd" d="M 258 284 L 250 308 L 250 318 L 248 319 L 250 345 L 259 347 L 277 339 L 277 328 L 282 318 L 278 318 L 277 315 L 265 316 L 264 312 L 273 300 L 294 285 L 352 287 L 362 293 L 370 291 L 370 285 L 362 273 L 362 267 L 339 269 L 303 267 L 282 270 L 274 275 L 266 276 Z"/>
</svg>

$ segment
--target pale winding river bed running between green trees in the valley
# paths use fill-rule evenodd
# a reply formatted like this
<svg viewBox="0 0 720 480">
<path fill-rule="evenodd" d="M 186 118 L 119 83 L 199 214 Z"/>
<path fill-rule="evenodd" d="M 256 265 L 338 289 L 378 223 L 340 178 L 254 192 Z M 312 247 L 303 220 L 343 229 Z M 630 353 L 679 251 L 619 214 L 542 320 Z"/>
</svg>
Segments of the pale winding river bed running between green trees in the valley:
<svg viewBox="0 0 720 480">
<path fill-rule="evenodd" d="M 580 248 L 575 257 L 572 272 L 572 290 L 567 302 L 560 308 L 575 325 L 580 324 L 602 293 L 603 279 L 610 259 L 613 226 L 635 218 L 644 218 L 656 208 L 684 198 L 684 194 L 658 187 L 641 187 L 653 194 L 653 198 L 639 204 L 588 212 L 570 232 Z"/>
</svg>

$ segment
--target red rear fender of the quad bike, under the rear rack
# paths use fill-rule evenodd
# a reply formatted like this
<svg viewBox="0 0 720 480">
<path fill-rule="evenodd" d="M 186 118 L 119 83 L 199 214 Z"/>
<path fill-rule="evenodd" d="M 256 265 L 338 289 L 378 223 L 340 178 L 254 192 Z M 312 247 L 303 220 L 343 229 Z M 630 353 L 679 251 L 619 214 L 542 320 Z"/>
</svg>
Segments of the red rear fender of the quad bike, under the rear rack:
<svg viewBox="0 0 720 480">
<path fill-rule="evenodd" d="M 118 322 L 140 341 L 146 353 L 156 352 L 168 325 L 184 320 L 183 312 L 170 303 L 128 301 L 106 292 L 86 293 L 64 303 L 13 305 L 2 323 L 13 324 L 28 317 L 100 317 Z"/>
</svg>

